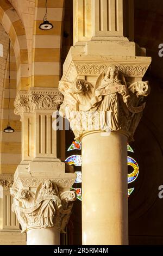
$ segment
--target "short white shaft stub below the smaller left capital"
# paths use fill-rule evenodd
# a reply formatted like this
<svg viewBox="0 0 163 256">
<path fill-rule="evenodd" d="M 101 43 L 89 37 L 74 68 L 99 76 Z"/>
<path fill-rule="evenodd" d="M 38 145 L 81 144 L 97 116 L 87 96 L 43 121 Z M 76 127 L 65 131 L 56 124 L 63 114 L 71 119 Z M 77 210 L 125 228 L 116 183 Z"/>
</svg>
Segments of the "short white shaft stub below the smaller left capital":
<svg viewBox="0 0 163 256">
<path fill-rule="evenodd" d="M 27 245 L 60 245 L 60 232 L 55 228 L 35 228 L 27 231 Z"/>
</svg>

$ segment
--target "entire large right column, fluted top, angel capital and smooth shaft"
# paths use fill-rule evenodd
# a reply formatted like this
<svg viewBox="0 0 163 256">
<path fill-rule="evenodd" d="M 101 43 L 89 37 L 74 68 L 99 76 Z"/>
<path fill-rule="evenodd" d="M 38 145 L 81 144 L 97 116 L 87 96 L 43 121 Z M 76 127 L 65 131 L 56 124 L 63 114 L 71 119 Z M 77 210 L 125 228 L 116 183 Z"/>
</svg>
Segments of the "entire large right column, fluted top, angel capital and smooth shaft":
<svg viewBox="0 0 163 256">
<path fill-rule="evenodd" d="M 83 245 L 128 244 L 127 142 L 150 92 L 142 77 L 151 63 L 129 41 L 132 8 L 128 0 L 74 0 L 74 46 L 59 90 L 60 112 L 82 141 Z"/>
</svg>

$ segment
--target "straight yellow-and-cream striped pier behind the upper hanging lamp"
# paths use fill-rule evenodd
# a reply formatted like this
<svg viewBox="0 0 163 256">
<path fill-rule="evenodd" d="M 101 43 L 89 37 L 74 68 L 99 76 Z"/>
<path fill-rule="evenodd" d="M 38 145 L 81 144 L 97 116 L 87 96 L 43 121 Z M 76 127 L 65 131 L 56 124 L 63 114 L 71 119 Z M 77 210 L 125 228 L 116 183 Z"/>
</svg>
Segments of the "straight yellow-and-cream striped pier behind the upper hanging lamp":
<svg viewBox="0 0 163 256">
<path fill-rule="evenodd" d="M 64 0 L 47 1 L 47 19 L 53 24 L 48 31 L 39 29 L 45 15 L 45 1 L 35 1 L 35 22 L 33 35 L 33 87 L 58 88 L 60 80 L 60 51 Z"/>
</svg>

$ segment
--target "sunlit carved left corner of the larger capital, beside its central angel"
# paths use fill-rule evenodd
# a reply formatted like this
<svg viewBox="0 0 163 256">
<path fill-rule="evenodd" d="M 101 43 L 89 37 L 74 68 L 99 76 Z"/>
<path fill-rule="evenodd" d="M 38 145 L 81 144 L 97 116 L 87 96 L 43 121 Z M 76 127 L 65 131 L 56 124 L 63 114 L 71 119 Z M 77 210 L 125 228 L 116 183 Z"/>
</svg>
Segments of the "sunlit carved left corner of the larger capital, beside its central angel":
<svg viewBox="0 0 163 256">
<path fill-rule="evenodd" d="M 79 138 L 84 126 L 83 111 L 93 97 L 93 86 L 85 80 L 77 79 L 74 82 L 60 81 L 59 90 L 64 95 L 60 115 L 70 121 L 74 135 Z"/>
</svg>

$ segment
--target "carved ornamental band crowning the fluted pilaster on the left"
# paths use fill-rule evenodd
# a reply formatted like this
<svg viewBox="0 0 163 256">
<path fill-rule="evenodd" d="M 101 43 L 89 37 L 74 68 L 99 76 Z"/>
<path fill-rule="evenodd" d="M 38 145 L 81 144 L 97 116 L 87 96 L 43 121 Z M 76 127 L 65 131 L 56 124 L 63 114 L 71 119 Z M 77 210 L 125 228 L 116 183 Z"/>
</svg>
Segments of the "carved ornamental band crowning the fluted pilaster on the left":
<svg viewBox="0 0 163 256">
<path fill-rule="evenodd" d="M 57 89 L 30 88 L 29 91 L 17 93 L 14 113 L 22 115 L 24 112 L 34 113 L 36 109 L 57 110 L 62 100 L 63 97 Z"/>
</svg>

